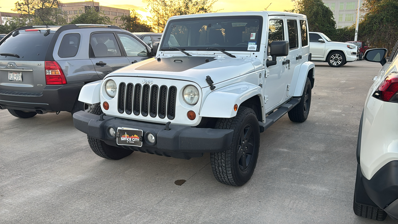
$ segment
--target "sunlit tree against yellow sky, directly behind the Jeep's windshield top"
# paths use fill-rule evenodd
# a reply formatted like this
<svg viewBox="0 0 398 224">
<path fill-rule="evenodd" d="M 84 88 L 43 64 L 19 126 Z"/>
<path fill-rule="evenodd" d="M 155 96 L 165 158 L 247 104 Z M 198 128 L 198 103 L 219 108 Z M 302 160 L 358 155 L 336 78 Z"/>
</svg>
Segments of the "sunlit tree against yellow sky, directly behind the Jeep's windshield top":
<svg viewBox="0 0 398 224">
<path fill-rule="evenodd" d="M 213 4 L 218 0 L 149 0 L 154 31 L 163 32 L 167 20 L 172 16 L 217 12 Z"/>
</svg>

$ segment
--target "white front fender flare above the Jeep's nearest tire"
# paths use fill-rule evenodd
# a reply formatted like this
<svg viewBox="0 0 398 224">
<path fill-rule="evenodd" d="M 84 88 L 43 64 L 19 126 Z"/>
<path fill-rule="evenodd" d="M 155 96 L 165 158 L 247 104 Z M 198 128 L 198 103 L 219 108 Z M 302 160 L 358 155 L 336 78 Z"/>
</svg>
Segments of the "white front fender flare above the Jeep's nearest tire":
<svg viewBox="0 0 398 224">
<path fill-rule="evenodd" d="M 261 87 L 252 83 L 240 82 L 225 86 L 206 97 L 199 114 L 202 117 L 232 118 L 236 116 L 235 104 L 239 108 L 242 102 L 256 95 L 261 96 Z"/>
</svg>

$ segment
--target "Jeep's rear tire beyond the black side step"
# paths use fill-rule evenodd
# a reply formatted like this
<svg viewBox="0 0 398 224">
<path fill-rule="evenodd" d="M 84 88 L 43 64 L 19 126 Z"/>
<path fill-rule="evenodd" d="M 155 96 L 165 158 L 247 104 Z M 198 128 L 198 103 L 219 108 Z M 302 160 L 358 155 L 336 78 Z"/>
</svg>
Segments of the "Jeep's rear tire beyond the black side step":
<svg viewBox="0 0 398 224">
<path fill-rule="evenodd" d="M 293 122 L 304 122 L 308 118 L 311 106 L 311 81 L 308 77 L 300 97 L 300 102 L 287 112 L 289 119 Z"/>
</svg>

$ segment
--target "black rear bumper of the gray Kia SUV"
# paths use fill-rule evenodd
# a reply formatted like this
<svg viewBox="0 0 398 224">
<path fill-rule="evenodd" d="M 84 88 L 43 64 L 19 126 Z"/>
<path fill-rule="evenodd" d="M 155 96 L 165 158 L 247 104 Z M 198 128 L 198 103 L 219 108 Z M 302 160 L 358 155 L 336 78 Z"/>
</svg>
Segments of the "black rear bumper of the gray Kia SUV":
<svg viewBox="0 0 398 224">
<path fill-rule="evenodd" d="M 84 83 L 48 85 L 43 93 L 15 92 L 0 90 L 1 108 L 47 112 L 71 111 Z"/>
</svg>

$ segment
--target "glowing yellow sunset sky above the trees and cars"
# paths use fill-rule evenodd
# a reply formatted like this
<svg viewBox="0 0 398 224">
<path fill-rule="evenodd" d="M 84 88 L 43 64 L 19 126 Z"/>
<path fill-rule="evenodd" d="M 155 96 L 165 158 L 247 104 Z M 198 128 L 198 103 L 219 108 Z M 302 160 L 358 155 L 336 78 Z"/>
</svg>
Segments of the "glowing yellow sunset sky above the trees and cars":
<svg viewBox="0 0 398 224">
<path fill-rule="evenodd" d="M 1 12 L 14 12 L 14 4 L 17 0 L 1 0 L 0 11 Z M 63 0 L 62 2 L 79 2 L 78 0 Z M 82 1 L 83 2 L 83 1 Z M 98 1 L 100 6 L 109 6 L 114 8 L 123 9 L 135 9 L 139 14 L 142 15 L 142 19 L 146 20 L 146 16 L 150 16 L 150 13 L 146 9 L 148 0 L 106 0 Z M 291 0 L 219 0 L 214 4 L 213 9 L 219 10 L 219 12 L 234 12 L 234 11 L 261 11 L 264 10 L 270 3 L 271 6 L 267 10 L 271 11 L 283 11 L 285 9 L 293 8 L 293 2 Z"/>
</svg>

